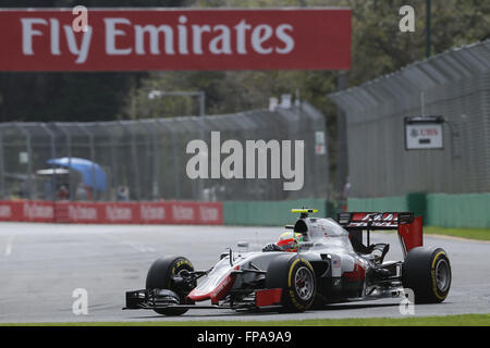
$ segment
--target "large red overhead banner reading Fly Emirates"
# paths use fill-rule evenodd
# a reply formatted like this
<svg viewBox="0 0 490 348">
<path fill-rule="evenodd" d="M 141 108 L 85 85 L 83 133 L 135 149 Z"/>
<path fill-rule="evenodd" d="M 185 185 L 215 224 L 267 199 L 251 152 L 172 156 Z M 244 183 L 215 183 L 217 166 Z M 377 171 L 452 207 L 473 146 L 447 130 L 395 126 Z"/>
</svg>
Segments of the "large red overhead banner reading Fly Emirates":
<svg viewBox="0 0 490 348">
<path fill-rule="evenodd" d="M 1 71 L 347 70 L 351 10 L 0 10 Z M 75 22 L 79 25 L 79 21 Z"/>
</svg>

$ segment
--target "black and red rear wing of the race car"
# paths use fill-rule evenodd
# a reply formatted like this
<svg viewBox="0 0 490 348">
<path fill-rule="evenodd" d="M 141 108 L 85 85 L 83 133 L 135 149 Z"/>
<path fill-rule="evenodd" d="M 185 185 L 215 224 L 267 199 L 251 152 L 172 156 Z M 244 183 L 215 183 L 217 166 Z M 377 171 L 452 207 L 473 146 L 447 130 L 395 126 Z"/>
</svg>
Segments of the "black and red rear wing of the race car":
<svg viewBox="0 0 490 348">
<path fill-rule="evenodd" d="M 424 244 L 422 216 L 414 216 L 413 212 L 345 212 L 339 213 L 338 222 L 360 241 L 363 231 L 367 231 L 368 245 L 370 231 L 396 229 L 404 257 Z"/>
</svg>

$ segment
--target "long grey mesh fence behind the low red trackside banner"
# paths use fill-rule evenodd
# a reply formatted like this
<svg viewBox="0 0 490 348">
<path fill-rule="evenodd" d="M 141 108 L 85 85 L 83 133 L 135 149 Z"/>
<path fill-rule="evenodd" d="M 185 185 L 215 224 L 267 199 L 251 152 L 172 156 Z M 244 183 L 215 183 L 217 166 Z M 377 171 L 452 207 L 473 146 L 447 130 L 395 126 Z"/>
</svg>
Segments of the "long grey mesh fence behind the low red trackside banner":
<svg viewBox="0 0 490 348">
<path fill-rule="evenodd" d="M 203 139 L 210 148 L 211 132 L 221 144 L 238 140 L 304 140 L 304 186 L 284 190 L 281 178 L 191 179 L 186 174 L 188 141 Z M 322 134 L 322 136 L 319 136 Z M 181 116 L 96 123 L 0 124 L 0 199 L 60 199 L 60 188 L 72 200 L 281 200 L 327 198 L 328 148 L 326 119 L 307 102 L 274 111 L 254 110 L 228 115 Z M 320 141 L 319 141 L 320 140 Z M 210 150 L 210 149 L 209 149 Z M 221 154 L 221 161 L 228 154 Z M 87 189 L 84 177 L 50 159 L 89 160 L 106 173 L 106 189 Z M 270 153 L 268 172 L 270 173 Z M 256 158 L 257 161 L 257 158 Z M 293 158 L 293 166 L 295 159 Z M 256 163 L 257 169 L 257 163 Z M 91 172 L 88 172 L 90 175 Z M 94 167 L 94 173 L 96 173 Z M 94 174 L 93 182 L 97 175 Z M 100 183 L 99 183 L 100 184 Z M 97 186 L 93 183 L 93 186 Z M 61 197 L 62 198 L 62 197 Z"/>
</svg>

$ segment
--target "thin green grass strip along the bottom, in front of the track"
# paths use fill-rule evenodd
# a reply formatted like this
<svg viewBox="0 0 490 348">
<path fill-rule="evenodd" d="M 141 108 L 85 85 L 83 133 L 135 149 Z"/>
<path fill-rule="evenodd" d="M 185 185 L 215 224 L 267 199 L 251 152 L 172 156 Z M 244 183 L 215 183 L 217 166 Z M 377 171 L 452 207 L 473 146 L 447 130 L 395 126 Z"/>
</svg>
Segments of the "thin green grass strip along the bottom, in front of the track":
<svg viewBox="0 0 490 348">
<path fill-rule="evenodd" d="M 15 323 L 0 326 L 490 326 L 490 314 L 284 321 Z"/>
</svg>

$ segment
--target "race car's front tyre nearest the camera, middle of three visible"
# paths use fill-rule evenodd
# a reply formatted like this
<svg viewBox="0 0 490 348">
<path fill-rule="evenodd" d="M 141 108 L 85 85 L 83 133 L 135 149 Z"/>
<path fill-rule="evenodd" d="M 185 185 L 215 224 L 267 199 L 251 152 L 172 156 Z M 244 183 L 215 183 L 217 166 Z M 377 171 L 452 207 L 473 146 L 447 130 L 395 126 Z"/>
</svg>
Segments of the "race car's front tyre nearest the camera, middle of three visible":
<svg viewBox="0 0 490 348">
<path fill-rule="evenodd" d="M 281 288 L 287 312 L 303 312 L 314 303 L 317 283 L 311 264 L 297 254 L 278 256 L 267 268 L 266 288 Z"/>
</svg>

